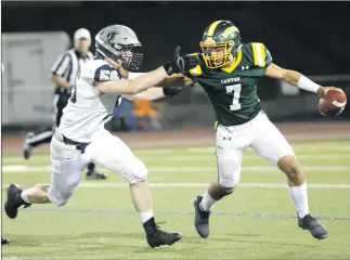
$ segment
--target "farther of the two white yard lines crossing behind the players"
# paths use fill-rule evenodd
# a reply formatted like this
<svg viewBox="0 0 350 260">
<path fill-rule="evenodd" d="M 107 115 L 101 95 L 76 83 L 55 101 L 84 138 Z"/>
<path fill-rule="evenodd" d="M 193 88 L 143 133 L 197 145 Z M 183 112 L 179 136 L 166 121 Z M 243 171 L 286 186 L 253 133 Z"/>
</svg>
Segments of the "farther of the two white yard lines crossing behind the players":
<svg viewBox="0 0 350 260">
<path fill-rule="evenodd" d="M 302 167 L 307 171 L 348 171 L 349 166 L 306 166 Z M 274 166 L 246 166 L 242 167 L 244 171 L 278 171 Z M 2 173 L 35 173 L 35 172 L 50 172 L 51 166 L 25 166 L 25 165 L 7 165 L 2 167 Z M 153 172 L 199 172 L 199 171 L 217 171 L 217 167 L 150 167 L 148 171 Z"/>
</svg>

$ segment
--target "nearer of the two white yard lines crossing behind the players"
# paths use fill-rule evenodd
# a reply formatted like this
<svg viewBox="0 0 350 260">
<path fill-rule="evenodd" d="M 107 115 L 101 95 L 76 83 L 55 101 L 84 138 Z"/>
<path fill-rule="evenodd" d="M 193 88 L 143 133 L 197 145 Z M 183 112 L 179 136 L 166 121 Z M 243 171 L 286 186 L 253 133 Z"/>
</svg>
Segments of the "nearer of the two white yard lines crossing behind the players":
<svg viewBox="0 0 350 260">
<path fill-rule="evenodd" d="M 147 183 L 151 187 L 165 187 L 165 188 L 185 188 L 185 187 L 206 187 L 208 183 Z M 8 187 L 10 184 L 3 184 L 2 188 Z M 128 187 L 127 183 L 101 183 L 101 182 L 81 182 L 80 187 Z M 286 188 L 286 183 L 241 183 L 237 187 L 267 187 L 267 188 Z M 315 183 L 308 184 L 309 188 L 350 188 L 350 184 L 327 184 L 327 183 Z"/>
</svg>

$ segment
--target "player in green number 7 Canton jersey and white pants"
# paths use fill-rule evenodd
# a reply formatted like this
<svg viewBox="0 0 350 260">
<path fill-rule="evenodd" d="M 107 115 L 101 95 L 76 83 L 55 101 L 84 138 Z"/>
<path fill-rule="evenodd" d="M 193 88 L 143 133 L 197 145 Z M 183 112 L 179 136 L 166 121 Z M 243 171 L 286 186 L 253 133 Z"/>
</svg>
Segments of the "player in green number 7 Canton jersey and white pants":
<svg viewBox="0 0 350 260">
<path fill-rule="evenodd" d="M 199 65 L 185 76 L 204 88 L 216 112 L 219 178 L 194 200 L 198 234 L 208 237 L 210 209 L 233 193 L 239 182 L 243 153 L 251 147 L 286 174 L 299 226 L 317 239 L 326 238 L 327 231 L 309 213 L 306 177 L 291 146 L 261 109 L 257 79 L 280 79 L 320 96 L 334 87 L 321 87 L 297 72 L 276 66 L 263 43 L 244 43 L 230 21 L 210 24 L 200 49 L 202 53 L 194 54 Z"/>
</svg>

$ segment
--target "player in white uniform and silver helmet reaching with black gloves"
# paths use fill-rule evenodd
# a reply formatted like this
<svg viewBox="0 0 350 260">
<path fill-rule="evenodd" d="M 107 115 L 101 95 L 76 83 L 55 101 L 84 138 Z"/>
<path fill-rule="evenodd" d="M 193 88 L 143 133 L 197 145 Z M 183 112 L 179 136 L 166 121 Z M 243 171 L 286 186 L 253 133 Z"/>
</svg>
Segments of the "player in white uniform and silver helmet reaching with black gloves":
<svg viewBox="0 0 350 260">
<path fill-rule="evenodd" d="M 155 222 L 145 181 L 146 167 L 119 138 L 104 129 L 104 123 L 111 120 L 122 96 L 155 100 L 177 94 L 178 88 L 152 87 L 164 86 L 173 80 L 170 75 L 196 67 L 197 58 L 180 56 L 180 48 L 177 48 L 171 62 L 134 79 L 125 79 L 121 70 L 105 60 L 122 64 L 126 69 L 138 68 L 142 54 L 135 52 L 141 46 L 137 35 L 126 26 L 112 25 L 96 35 L 95 44 L 95 58 L 81 66 L 74 92 L 63 110 L 61 125 L 51 141 L 51 183 L 24 191 L 11 184 L 5 212 L 14 219 L 21 206 L 48 203 L 65 205 L 78 188 L 82 171 L 92 161 L 121 176 L 130 184 L 132 202 L 148 245 L 158 247 L 174 244 L 181 239 L 181 234 L 164 232 Z"/>
</svg>

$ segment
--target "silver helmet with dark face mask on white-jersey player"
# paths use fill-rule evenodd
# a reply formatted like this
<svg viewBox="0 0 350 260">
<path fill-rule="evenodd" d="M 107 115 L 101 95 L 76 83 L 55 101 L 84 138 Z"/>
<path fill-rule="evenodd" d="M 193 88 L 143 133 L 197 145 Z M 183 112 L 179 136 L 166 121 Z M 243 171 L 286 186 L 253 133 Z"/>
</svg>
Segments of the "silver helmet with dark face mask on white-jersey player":
<svg viewBox="0 0 350 260">
<path fill-rule="evenodd" d="M 137 52 L 141 43 L 129 27 L 107 26 L 96 35 L 95 44 L 98 57 L 109 57 L 121 64 L 125 69 L 137 70 L 142 64 L 143 54 Z"/>
</svg>

